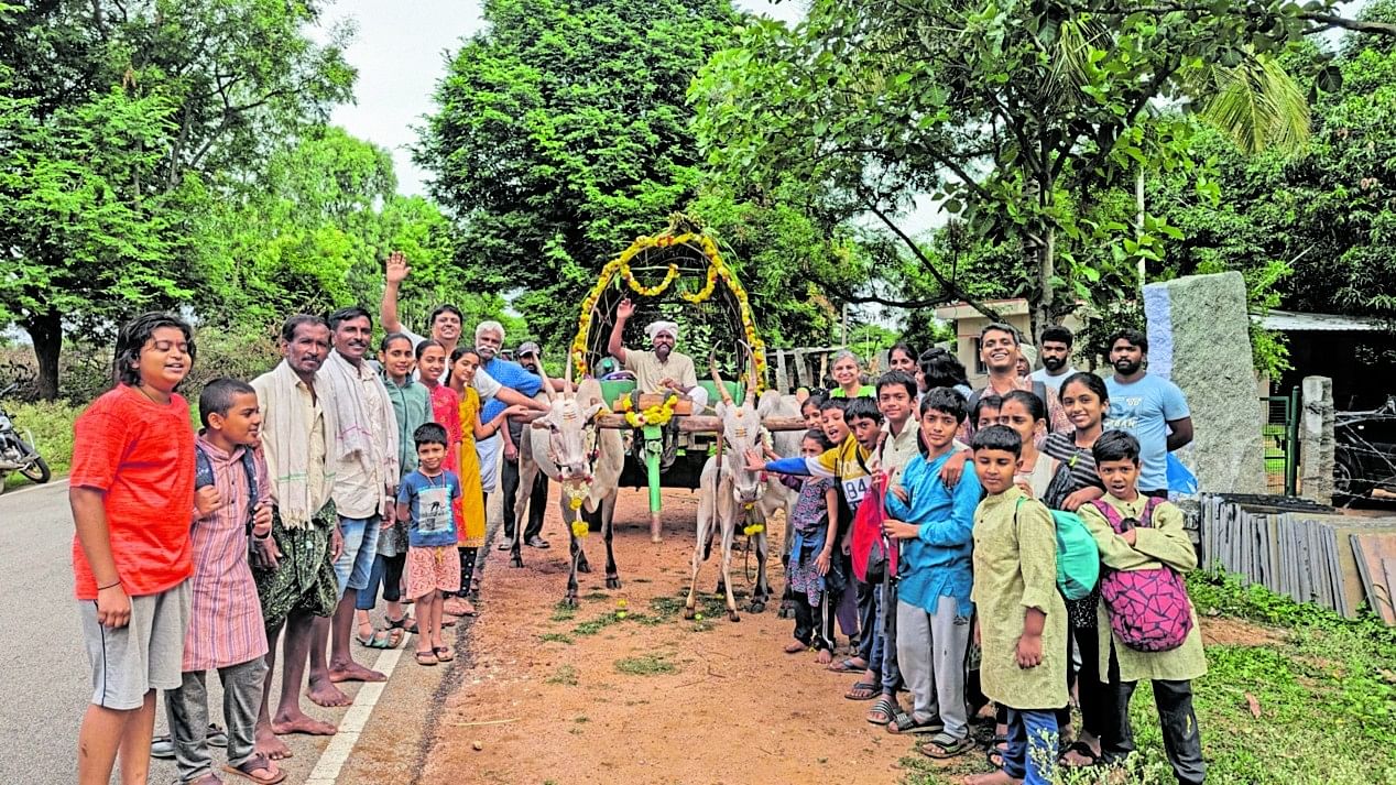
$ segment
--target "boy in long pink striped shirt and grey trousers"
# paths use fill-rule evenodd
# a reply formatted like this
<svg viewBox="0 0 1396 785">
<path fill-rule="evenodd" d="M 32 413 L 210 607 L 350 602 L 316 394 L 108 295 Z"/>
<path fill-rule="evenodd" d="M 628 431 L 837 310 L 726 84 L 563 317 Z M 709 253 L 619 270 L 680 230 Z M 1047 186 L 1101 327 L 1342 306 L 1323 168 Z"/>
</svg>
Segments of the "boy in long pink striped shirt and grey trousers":
<svg viewBox="0 0 1396 785">
<path fill-rule="evenodd" d="M 251 386 L 216 379 L 198 397 L 204 430 L 198 434 L 194 522 L 190 539 L 194 577 L 183 683 L 165 693 L 179 781 L 221 782 L 208 751 L 208 693 L 204 676 L 216 669 L 223 683 L 228 765 L 223 771 L 272 785 L 286 778 L 253 736 L 267 676 L 267 633 L 257 584 L 247 563 L 248 538 L 271 535 L 267 462 L 261 457 L 261 412 Z"/>
</svg>

